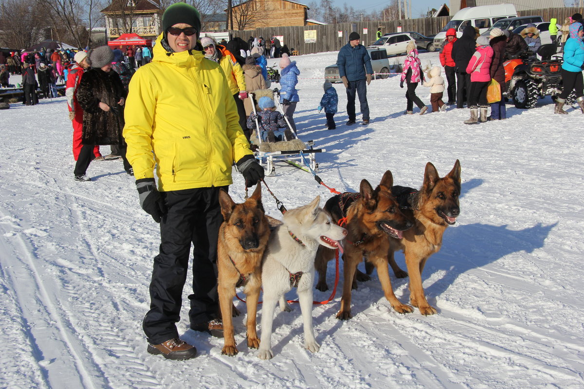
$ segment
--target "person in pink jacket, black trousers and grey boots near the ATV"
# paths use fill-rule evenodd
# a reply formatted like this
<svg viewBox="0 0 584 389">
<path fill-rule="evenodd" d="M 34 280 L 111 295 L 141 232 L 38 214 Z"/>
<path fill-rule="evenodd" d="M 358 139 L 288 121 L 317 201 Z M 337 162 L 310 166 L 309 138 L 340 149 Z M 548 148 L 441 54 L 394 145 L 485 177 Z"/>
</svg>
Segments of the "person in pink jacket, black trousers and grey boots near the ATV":
<svg viewBox="0 0 584 389">
<path fill-rule="evenodd" d="M 493 48 L 489 45 L 489 40 L 484 36 L 477 38 L 477 51 L 468 61 L 467 74 L 471 75 L 471 86 L 468 91 L 468 107 L 471 108 L 471 117 L 465 120 L 465 124 L 478 123 L 486 121 L 486 111 L 489 103 L 486 100 L 486 90 L 491 82 L 491 61 L 493 59 Z M 478 108 L 481 108 L 479 118 Z"/>
</svg>

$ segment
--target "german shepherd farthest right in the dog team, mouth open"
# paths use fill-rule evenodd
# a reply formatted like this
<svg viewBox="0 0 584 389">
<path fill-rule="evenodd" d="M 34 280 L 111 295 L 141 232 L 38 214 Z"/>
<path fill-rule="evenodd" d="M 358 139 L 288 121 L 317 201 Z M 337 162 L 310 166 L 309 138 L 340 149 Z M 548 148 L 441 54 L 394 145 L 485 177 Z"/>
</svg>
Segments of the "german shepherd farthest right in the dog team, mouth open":
<svg viewBox="0 0 584 389">
<path fill-rule="evenodd" d="M 403 250 L 409 273 L 410 303 L 427 316 L 436 313 L 424 295 L 422 271 L 430 255 L 440 251 L 442 235 L 446 227 L 456 223 L 460 214 L 460 162 L 456 160 L 450 173 L 440 178 L 436 167 L 426 164 L 424 182 L 419 191 L 413 188 L 395 186 L 394 194 L 407 194 L 409 208 L 404 210 L 414 221 L 411 229 L 404 232 L 403 239 L 391 239 L 389 260 L 394 261 L 394 252 Z M 379 270 L 378 270 L 379 271 Z"/>
</svg>

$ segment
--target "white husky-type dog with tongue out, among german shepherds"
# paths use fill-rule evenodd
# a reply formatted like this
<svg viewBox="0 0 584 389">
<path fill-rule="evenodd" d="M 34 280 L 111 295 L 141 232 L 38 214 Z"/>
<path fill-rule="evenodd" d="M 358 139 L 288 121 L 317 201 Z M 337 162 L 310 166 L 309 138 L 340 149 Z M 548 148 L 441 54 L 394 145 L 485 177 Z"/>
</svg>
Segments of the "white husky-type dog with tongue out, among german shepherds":
<svg viewBox="0 0 584 389">
<path fill-rule="evenodd" d="M 320 348 L 312 331 L 312 281 L 314 258 L 319 244 L 342 250 L 338 240 L 347 231 L 331 221 L 321 208 L 317 196 L 308 205 L 284 213 L 283 224 L 270 235 L 262 264 L 262 337 L 260 359 L 270 359 L 272 353 L 272 323 L 276 303 L 282 311 L 290 311 L 284 294 L 298 288 L 298 300 L 304 321 L 304 348 L 317 352 Z"/>
</svg>

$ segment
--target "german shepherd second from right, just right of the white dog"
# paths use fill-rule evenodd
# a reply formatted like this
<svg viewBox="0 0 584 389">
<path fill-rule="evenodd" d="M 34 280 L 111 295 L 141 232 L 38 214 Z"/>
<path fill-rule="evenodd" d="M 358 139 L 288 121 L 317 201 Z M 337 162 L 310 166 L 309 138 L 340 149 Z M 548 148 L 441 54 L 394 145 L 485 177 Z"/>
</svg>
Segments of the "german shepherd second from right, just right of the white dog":
<svg viewBox="0 0 584 389">
<path fill-rule="evenodd" d="M 388 255 L 391 250 L 390 237 L 401 239 L 405 230 L 413 223 L 399 210 L 399 205 L 394 195 L 391 194 L 393 176 L 391 171 L 386 171 L 381 178 L 381 183 L 373 190 L 367 180 L 360 184 L 360 196 L 347 209 L 347 238 L 345 254 L 343 254 L 343 296 L 340 302 L 340 310 L 336 317 L 347 320 L 351 316 L 351 289 L 357 265 L 363 260 L 370 262 L 377 268 L 384 295 L 391 306 L 400 313 L 410 312 L 412 309 L 399 302 L 391 287 L 391 279 L 388 271 Z M 322 250 L 322 254 L 325 250 Z M 330 258 L 330 257 L 328 257 Z M 318 258 L 320 264 L 324 261 L 326 272 L 326 257 Z M 322 269 L 322 267 L 319 267 Z"/>
</svg>

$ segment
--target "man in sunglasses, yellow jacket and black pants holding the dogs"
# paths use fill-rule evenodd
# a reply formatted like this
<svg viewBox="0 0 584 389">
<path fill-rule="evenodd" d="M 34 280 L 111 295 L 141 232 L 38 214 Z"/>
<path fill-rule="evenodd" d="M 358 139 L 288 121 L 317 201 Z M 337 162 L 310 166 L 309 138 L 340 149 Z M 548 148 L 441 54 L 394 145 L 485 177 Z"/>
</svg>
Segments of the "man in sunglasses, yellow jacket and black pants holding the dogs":
<svg viewBox="0 0 584 389">
<path fill-rule="evenodd" d="M 190 359 L 196 349 L 180 340 L 180 320 L 189 250 L 193 250 L 190 328 L 221 335 L 218 320 L 217 239 L 223 222 L 220 188 L 232 183 L 237 161 L 250 187 L 263 178 L 239 126 L 223 70 L 197 47 L 199 12 L 175 3 L 162 16 L 154 58 L 130 82 L 124 138 L 134 168 L 140 205 L 160 223 L 154 258 L 150 311 L 142 328 L 147 351 L 166 359 Z M 154 180 L 157 166 L 158 188 Z"/>
</svg>

